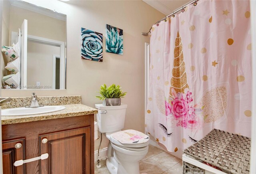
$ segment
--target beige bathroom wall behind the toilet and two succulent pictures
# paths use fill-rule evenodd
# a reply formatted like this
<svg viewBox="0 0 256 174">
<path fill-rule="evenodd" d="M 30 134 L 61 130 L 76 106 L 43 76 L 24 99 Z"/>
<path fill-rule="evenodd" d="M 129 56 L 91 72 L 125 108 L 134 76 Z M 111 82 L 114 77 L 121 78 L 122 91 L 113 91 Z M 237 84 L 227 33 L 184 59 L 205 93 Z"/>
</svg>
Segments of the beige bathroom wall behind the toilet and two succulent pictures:
<svg viewBox="0 0 256 174">
<path fill-rule="evenodd" d="M 116 83 L 127 93 L 122 103 L 128 104 L 124 129 L 144 132 L 144 43 L 152 24 L 164 15 L 148 4 L 137 1 L 30 1 L 67 15 L 67 86 L 66 90 L 36 90 L 38 96 L 82 95 L 90 107 L 101 103 L 95 98 L 100 85 Z M 106 24 L 124 30 L 124 55 L 105 52 Z M 82 28 L 103 34 L 103 62 L 80 58 Z M 33 90 L 35 91 L 35 90 Z M 32 90 L 2 90 L 2 96 L 30 96 Z M 104 138 L 101 148 L 107 146 Z M 99 140 L 95 142 L 95 150 Z"/>
</svg>

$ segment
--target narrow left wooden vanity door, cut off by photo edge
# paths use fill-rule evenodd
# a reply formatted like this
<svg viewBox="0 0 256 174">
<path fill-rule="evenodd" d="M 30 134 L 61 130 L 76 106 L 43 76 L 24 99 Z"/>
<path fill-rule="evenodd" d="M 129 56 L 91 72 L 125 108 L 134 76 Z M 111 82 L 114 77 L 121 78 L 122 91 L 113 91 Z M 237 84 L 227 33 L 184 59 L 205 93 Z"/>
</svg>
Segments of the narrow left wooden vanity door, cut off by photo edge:
<svg viewBox="0 0 256 174">
<path fill-rule="evenodd" d="M 2 142 L 3 174 L 25 174 L 25 166 L 15 167 L 17 160 L 25 159 L 25 138 Z"/>
</svg>

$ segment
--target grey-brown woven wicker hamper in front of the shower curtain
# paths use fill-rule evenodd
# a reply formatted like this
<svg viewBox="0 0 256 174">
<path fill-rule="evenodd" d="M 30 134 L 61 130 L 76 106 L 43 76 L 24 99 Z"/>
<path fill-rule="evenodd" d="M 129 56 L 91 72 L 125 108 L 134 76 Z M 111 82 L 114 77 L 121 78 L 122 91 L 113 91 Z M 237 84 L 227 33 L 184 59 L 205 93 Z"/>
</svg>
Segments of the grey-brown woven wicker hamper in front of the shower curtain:
<svg viewBox="0 0 256 174">
<path fill-rule="evenodd" d="M 204 138 L 186 148 L 184 153 L 218 167 L 228 174 L 250 172 L 250 138 L 246 136 L 213 129 Z M 195 168 L 198 167 L 183 163 L 185 174 L 201 174 Z M 203 169 L 200 170 L 203 174 Z"/>
</svg>

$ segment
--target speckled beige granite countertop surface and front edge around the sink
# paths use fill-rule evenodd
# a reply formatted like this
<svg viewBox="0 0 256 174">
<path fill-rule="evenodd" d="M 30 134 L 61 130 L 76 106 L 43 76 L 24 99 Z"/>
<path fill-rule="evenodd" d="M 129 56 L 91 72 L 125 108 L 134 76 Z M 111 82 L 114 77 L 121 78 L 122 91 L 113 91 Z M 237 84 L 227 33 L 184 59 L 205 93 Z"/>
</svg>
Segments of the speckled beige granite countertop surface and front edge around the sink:
<svg viewBox="0 0 256 174">
<path fill-rule="evenodd" d="M 24 116 L 2 116 L 2 125 L 15 124 L 15 123 L 25 123 L 31 121 L 42 121 L 50 119 L 59 119 L 66 117 L 75 117 L 80 115 L 91 115 L 98 113 L 98 110 L 92 107 L 88 107 L 83 104 L 71 104 L 71 105 L 62 105 L 66 109 L 62 111 L 37 114 L 37 115 L 24 115 Z"/>
</svg>

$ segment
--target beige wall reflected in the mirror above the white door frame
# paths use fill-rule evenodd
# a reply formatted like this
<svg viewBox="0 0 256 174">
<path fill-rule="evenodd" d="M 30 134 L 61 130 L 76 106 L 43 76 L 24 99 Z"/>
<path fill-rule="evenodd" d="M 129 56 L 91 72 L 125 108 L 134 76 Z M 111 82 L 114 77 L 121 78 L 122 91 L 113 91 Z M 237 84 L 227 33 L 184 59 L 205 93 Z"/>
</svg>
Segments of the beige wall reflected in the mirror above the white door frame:
<svg viewBox="0 0 256 174">
<path fill-rule="evenodd" d="M 10 10 L 10 32 L 18 32 L 26 19 L 29 35 L 66 42 L 66 21 L 16 6 L 11 6 Z"/>
</svg>

